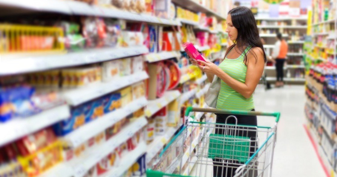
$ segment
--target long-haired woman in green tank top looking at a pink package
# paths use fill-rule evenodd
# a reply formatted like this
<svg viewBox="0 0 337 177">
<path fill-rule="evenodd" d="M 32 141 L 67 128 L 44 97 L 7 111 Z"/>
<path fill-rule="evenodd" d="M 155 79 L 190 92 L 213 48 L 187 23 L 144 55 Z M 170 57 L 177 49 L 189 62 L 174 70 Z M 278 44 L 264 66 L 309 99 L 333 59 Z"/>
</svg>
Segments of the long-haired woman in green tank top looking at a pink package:
<svg viewBox="0 0 337 177">
<path fill-rule="evenodd" d="M 200 61 L 201 65 L 196 64 L 193 59 L 191 62 L 206 73 L 209 81 L 213 80 L 214 75 L 221 79 L 217 109 L 254 111 L 252 94 L 267 60 L 255 18 L 249 8 L 236 7 L 228 12 L 226 23 L 226 32 L 234 41 L 234 45 L 227 49 L 227 54 L 219 67 L 206 59 L 206 62 Z M 216 122 L 225 123 L 228 116 L 230 115 L 217 114 Z M 234 116 L 239 125 L 257 126 L 256 116 Z M 227 124 L 236 124 L 236 119 L 228 118 Z M 215 133 L 224 134 L 222 130 L 218 126 Z M 250 143 L 250 155 L 256 151 L 257 144 L 254 142 L 257 137 L 256 131 L 238 131 L 235 135 L 249 137 L 253 141 Z M 235 160 L 227 160 L 225 163 L 222 161 L 223 159 L 213 159 L 214 177 L 232 177 L 237 167 L 242 164 Z"/>
</svg>

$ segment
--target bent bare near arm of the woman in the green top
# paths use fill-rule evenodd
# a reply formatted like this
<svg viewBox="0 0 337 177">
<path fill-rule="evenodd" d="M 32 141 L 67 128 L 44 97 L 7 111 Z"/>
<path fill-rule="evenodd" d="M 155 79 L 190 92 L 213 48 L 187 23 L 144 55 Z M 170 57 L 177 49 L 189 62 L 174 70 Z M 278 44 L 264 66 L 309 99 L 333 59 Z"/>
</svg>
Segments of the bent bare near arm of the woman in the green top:
<svg viewBox="0 0 337 177">
<path fill-rule="evenodd" d="M 257 61 L 255 59 L 254 54 L 257 56 Z M 203 70 L 206 73 L 209 74 L 215 74 L 217 75 L 221 80 L 223 80 L 227 85 L 232 87 L 236 92 L 240 93 L 245 98 L 250 98 L 250 96 L 255 91 L 255 88 L 262 76 L 265 62 L 264 62 L 264 55 L 261 48 L 252 48 L 248 54 L 247 54 L 247 74 L 246 74 L 246 80 L 245 83 L 242 83 L 228 74 L 226 74 L 224 71 L 222 71 L 219 67 L 217 67 L 215 64 L 212 65 L 210 62 L 204 62 L 203 63 L 206 67 Z M 203 68 L 203 67 L 199 67 Z"/>
</svg>

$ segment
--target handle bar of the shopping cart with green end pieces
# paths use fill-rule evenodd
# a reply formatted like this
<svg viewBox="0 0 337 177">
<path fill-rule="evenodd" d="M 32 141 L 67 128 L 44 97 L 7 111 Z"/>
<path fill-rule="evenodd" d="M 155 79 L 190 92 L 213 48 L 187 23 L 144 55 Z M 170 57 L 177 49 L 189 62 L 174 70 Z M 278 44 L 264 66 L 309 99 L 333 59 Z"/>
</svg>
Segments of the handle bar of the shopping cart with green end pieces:
<svg viewBox="0 0 337 177">
<path fill-rule="evenodd" d="M 236 115 L 248 115 L 248 116 L 273 116 L 276 117 L 276 122 L 280 120 L 280 112 L 259 112 L 259 111 L 242 111 L 242 110 L 220 110 L 213 108 L 196 108 L 187 107 L 185 116 L 188 116 L 190 112 L 210 112 L 210 113 L 220 113 L 220 114 L 236 114 Z"/>
</svg>

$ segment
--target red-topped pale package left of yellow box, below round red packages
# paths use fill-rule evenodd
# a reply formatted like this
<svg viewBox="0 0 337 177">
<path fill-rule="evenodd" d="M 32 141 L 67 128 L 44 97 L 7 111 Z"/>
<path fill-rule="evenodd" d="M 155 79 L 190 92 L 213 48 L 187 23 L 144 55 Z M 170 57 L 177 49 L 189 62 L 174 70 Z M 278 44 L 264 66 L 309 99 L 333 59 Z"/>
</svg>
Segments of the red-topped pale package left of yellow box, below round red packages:
<svg viewBox="0 0 337 177">
<path fill-rule="evenodd" d="M 167 124 L 167 107 L 160 109 L 155 115 L 155 134 L 164 135 L 166 131 Z"/>
</svg>

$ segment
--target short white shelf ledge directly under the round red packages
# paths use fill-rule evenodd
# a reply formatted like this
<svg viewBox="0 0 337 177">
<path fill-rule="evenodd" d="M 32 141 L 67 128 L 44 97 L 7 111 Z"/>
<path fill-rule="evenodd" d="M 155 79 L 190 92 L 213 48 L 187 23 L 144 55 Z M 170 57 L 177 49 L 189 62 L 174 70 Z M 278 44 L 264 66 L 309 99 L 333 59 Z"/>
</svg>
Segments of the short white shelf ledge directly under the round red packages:
<svg viewBox="0 0 337 177">
<path fill-rule="evenodd" d="M 180 92 L 178 90 L 174 91 L 167 91 L 161 98 L 156 100 L 150 100 L 146 109 L 145 109 L 145 116 L 151 117 L 156 112 L 158 112 L 161 108 L 168 105 L 173 100 L 177 99 L 180 96 Z"/>
</svg>

